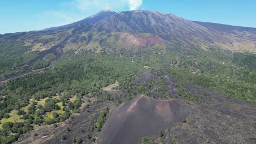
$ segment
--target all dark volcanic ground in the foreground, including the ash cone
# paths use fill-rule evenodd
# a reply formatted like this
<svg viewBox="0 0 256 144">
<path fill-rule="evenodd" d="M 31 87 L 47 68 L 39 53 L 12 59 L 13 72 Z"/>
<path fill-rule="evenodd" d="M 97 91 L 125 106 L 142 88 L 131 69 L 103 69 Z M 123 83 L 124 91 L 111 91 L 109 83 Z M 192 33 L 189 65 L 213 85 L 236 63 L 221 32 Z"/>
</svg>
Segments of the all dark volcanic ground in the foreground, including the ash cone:
<svg viewBox="0 0 256 144">
<path fill-rule="evenodd" d="M 156 95 L 153 89 L 160 87 L 159 81 L 163 79 L 166 92 L 178 92 L 177 80 L 162 70 L 147 71 L 133 82 L 150 83 L 153 79 L 158 80 L 150 89 L 153 95 Z M 186 83 L 182 86 L 196 98 L 202 98 L 203 102 L 194 103 L 182 96 L 154 99 L 144 95 L 119 106 L 114 105 L 116 100 L 94 102 L 88 109 L 81 109 L 74 119 L 58 124 L 57 128 L 53 125 L 35 127 L 35 130 L 21 135 L 16 143 L 72 143 L 73 138 L 79 137 L 84 143 L 91 143 L 86 139 L 87 134 L 96 138 L 94 143 L 141 143 L 143 137 L 157 143 L 160 130 L 164 133 L 164 143 L 255 143 L 255 104 L 232 99 L 208 88 Z M 109 93 L 115 99 L 124 92 Z M 102 130 L 91 132 L 91 126 L 106 106 L 110 112 Z M 66 131 L 67 127 L 71 131 Z M 61 140 L 62 134 L 66 140 Z"/>
</svg>

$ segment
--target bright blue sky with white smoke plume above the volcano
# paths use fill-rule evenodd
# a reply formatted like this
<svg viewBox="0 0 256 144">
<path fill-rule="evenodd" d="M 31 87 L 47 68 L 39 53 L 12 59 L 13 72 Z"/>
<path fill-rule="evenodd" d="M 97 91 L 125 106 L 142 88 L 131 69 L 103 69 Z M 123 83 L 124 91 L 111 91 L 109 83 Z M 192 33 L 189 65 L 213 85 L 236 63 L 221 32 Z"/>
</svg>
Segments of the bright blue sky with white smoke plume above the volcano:
<svg viewBox="0 0 256 144">
<path fill-rule="evenodd" d="M 0 34 L 61 26 L 101 9 L 155 10 L 188 20 L 256 27 L 256 0 L 0 0 Z"/>
</svg>

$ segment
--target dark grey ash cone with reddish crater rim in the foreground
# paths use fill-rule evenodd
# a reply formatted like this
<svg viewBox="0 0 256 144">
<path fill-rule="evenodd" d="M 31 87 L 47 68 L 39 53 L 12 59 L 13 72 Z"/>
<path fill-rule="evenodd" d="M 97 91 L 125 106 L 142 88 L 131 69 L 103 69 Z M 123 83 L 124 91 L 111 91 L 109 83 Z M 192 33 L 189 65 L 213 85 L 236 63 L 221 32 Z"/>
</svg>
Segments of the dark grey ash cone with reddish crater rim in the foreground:
<svg viewBox="0 0 256 144">
<path fill-rule="evenodd" d="M 158 137 L 189 115 L 177 100 L 157 100 L 140 95 L 110 112 L 102 128 L 101 143 L 138 143 L 142 137 Z"/>
</svg>

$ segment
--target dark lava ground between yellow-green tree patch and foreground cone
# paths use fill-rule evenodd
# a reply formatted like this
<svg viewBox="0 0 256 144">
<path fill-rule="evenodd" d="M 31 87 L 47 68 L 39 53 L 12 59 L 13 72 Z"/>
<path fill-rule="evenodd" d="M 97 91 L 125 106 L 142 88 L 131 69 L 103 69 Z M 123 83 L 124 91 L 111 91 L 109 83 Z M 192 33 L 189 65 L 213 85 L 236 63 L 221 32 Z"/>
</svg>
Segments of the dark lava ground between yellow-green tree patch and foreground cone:
<svg viewBox="0 0 256 144">
<path fill-rule="evenodd" d="M 91 126 L 94 125 L 94 121 L 97 119 L 99 113 L 104 111 L 106 106 L 110 104 L 110 101 L 104 101 L 100 103 L 92 103 L 89 108 L 81 109 L 73 119 L 68 119 L 66 122 L 57 124 L 57 128 L 51 125 L 44 125 L 43 127 L 36 127 L 34 130 L 21 135 L 19 140 L 15 143 L 72 143 L 74 139 L 82 139 L 83 142 L 89 143 L 90 140 L 86 139 L 86 135 L 95 135 L 91 132 Z M 87 111 L 88 110 L 88 111 Z M 70 131 L 66 131 L 66 128 Z M 38 136 L 34 136 L 34 133 Z M 66 140 L 61 140 L 61 135 L 66 137 Z"/>
</svg>

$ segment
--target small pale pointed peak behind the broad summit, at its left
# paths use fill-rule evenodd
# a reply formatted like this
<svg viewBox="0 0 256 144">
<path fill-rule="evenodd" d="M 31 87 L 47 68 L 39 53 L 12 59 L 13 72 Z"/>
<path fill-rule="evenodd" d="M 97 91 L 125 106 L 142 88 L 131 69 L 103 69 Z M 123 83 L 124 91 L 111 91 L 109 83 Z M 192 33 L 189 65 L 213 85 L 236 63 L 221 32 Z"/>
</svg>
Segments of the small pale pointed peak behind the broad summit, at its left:
<svg viewBox="0 0 256 144">
<path fill-rule="evenodd" d="M 46 31 L 46 30 L 54 30 L 54 29 L 58 29 L 58 28 L 71 27 L 74 25 L 78 25 L 79 23 L 95 23 L 95 22 L 98 22 L 106 17 L 112 16 L 114 14 L 116 14 L 115 11 L 110 10 L 110 9 L 104 9 L 104 10 L 101 10 L 99 13 L 89 16 L 83 20 L 73 22 L 71 24 L 64 25 L 64 26 L 45 28 L 44 30 Z"/>
</svg>

